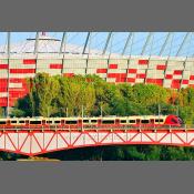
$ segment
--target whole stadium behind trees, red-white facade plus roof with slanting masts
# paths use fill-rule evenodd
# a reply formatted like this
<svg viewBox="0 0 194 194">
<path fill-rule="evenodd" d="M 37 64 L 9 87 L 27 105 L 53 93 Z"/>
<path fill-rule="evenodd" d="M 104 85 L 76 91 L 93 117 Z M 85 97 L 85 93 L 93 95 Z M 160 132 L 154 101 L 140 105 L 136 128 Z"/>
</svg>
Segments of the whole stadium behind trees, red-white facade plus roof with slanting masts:
<svg viewBox="0 0 194 194">
<path fill-rule="evenodd" d="M 6 42 L 0 45 L 1 108 L 9 110 L 24 96 L 25 79 L 39 72 L 96 74 L 110 83 L 152 83 L 175 90 L 194 86 L 192 32 L 74 32 L 72 40 L 79 40 L 78 44 L 68 41 L 70 33 L 61 32 L 59 38 L 34 32 L 16 43 L 12 33 L 4 32 Z"/>
</svg>

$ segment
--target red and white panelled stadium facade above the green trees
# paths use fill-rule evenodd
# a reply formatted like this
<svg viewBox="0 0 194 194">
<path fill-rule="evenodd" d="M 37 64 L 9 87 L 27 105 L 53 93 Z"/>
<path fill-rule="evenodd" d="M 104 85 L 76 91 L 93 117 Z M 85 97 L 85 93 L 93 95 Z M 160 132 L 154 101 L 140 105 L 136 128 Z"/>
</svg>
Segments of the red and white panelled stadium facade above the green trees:
<svg viewBox="0 0 194 194">
<path fill-rule="evenodd" d="M 194 59 L 165 58 L 105 59 L 94 57 L 44 55 L 34 58 L 0 58 L 0 106 L 13 106 L 28 93 L 27 78 L 38 72 L 51 75 L 98 74 L 111 83 L 153 83 L 164 88 L 194 86 Z M 8 62 L 9 61 L 9 62 Z M 9 101 L 9 103 L 8 103 Z"/>
</svg>

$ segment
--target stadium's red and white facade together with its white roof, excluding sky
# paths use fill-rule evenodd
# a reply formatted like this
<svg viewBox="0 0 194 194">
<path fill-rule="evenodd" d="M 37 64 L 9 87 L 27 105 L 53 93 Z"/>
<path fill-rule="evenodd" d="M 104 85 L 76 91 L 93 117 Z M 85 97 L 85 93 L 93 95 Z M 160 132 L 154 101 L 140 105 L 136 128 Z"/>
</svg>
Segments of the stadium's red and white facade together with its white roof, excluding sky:
<svg viewBox="0 0 194 194">
<path fill-rule="evenodd" d="M 39 40 L 39 41 L 38 41 Z M 43 47 L 47 42 L 47 47 Z M 25 45 L 24 50 L 23 45 Z M 39 52 L 35 52 L 39 45 Z M 0 106 L 13 106 L 28 93 L 27 78 L 45 72 L 51 75 L 73 76 L 96 74 L 111 83 L 152 83 L 164 88 L 194 86 L 194 58 L 100 54 L 42 34 L 39 39 L 11 44 L 11 54 L 0 47 Z M 76 49 L 78 48 L 78 49 Z M 22 53 L 19 51 L 22 50 Z M 83 52 L 84 50 L 84 52 Z M 85 54 L 88 53 L 88 54 Z"/>
</svg>

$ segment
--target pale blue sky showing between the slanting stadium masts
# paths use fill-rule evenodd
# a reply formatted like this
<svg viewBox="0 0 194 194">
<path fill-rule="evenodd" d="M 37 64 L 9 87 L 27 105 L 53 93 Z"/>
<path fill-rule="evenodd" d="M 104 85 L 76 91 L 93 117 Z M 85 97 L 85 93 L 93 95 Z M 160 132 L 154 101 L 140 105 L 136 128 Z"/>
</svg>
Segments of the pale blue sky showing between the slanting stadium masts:
<svg viewBox="0 0 194 194">
<path fill-rule="evenodd" d="M 131 32 L 112 32 L 106 52 L 122 53 L 127 37 Z M 62 32 L 45 32 L 47 35 L 62 39 Z M 146 42 L 150 32 L 133 32 L 129 41 L 125 54 L 140 55 Z M 159 55 L 162 45 L 165 42 L 169 32 L 152 32 L 147 47 L 144 50 L 145 55 Z M 186 32 L 173 32 L 166 43 L 162 55 L 176 55 Z M 68 32 L 67 42 L 83 47 L 88 32 Z M 92 32 L 89 44 L 91 49 L 102 50 L 105 45 L 109 32 Z M 35 38 L 35 32 L 11 32 L 11 43 L 25 41 L 27 38 Z M 0 32 L 0 44 L 7 43 L 7 32 Z M 89 47 L 88 44 L 88 47 Z M 192 57 L 194 54 L 194 34 L 188 33 L 184 47 L 178 55 Z"/>
</svg>

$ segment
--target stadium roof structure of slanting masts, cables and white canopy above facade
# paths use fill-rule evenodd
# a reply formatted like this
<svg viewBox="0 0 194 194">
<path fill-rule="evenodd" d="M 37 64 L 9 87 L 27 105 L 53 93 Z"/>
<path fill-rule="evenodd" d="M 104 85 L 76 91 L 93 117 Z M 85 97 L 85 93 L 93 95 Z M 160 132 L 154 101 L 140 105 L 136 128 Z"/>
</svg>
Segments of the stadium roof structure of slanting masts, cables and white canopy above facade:
<svg viewBox="0 0 194 194">
<path fill-rule="evenodd" d="M 32 32 L 16 41 L 21 32 L 4 33 L 0 53 L 75 54 L 109 57 L 193 57 L 193 32 Z M 1 35 L 0 33 L 0 35 Z M 9 39 L 8 39 L 9 38 Z M 10 42 L 10 43 L 8 43 Z M 8 47 L 9 45 L 9 47 Z"/>
</svg>

